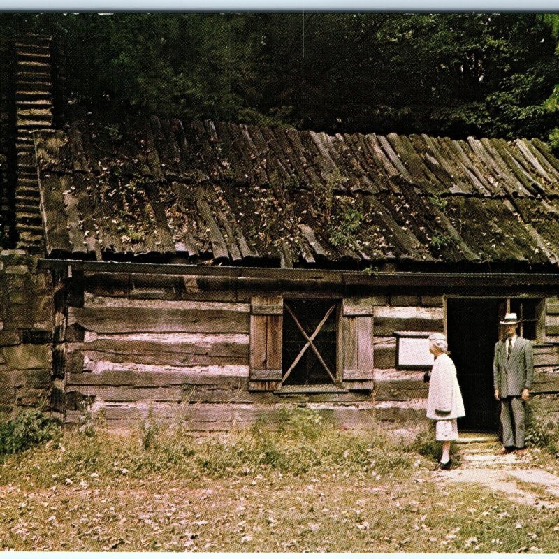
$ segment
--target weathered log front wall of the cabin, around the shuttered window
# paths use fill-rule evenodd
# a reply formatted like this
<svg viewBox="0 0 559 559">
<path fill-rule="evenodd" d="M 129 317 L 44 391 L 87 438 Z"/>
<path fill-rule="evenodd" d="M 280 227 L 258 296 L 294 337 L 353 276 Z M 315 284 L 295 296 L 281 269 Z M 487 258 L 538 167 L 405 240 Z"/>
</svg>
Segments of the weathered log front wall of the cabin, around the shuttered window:
<svg viewBox="0 0 559 559">
<path fill-rule="evenodd" d="M 74 273 L 61 285 L 67 288 L 57 291 L 57 301 L 65 297 L 68 307 L 56 313 L 53 366 L 55 407 L 66 421 L 78 421 L 84 400 L 110 422 L 138 421 L 151 409 L 193 428 L 244 425 L 259 414 L 273 422 L 285 402 L 321 407 L 337 419 L 344 410 L 342 423 L 352 426 L 371 421 L 373 410 L 377 421 L 424 419 L 423 370 L 396 368 L 393 333 L 444 331 L 444 298 L 433 291 L 384 289 L 363 299 L 372 305 L 372 390 L 344 383 L 349 390 L 278 393 L 252 390 L 249 382 L 250 302 L 274 294 L 262 286 L 224 277 L 93 272 Z M 342 300 L 341 288 L 314 295 Z M 551 314 L 542 320 L 549 321 L 556 307 L 553 299 L 546 303 Z M 549 343 L 549 335 L 535 344 L 535 368 L 534 395 L 558 392 L 559 344 Z"/>
</svg>

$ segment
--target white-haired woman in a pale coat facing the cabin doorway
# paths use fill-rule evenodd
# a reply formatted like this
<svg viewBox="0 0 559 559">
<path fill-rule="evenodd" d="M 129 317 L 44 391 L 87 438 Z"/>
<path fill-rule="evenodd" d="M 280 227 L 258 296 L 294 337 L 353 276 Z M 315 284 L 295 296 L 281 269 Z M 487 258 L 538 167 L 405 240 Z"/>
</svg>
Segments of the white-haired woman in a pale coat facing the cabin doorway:
<svg viewBox="0 0 559 559">
<path fill-rule="evenodd" d="M 442 442 L 442 456 L 437 470 L 450 470 L 450 443 L 458 439 L 456 418 L 462 417 L 464 403 L 456 379 L 456 367 L 447 355 L 447 337 L 429 336 L 429 351 L 435 356 L 429 382 L 427 417 L 435 420 L 435 440 Z"/>
</svg>

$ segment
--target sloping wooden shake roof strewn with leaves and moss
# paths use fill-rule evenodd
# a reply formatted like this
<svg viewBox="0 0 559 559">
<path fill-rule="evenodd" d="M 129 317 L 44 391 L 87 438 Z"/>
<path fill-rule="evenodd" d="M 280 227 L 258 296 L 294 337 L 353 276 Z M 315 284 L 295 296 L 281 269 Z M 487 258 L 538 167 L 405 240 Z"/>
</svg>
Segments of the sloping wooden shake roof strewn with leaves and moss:
<svg viewBox="0 0 559 559">
<path fill-rule="evenodd" d="M 450 140 L 160 120 L 35 136 L 50 256 L 282 267 L 559 261 L 559 160 Z"/>
</svg>

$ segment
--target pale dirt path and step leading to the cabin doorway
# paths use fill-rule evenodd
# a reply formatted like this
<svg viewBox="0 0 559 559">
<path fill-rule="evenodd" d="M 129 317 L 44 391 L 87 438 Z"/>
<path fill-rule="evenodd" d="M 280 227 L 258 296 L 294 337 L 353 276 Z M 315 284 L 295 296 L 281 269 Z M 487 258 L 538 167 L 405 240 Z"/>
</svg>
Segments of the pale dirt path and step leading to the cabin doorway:
<svg viewBox="0 0 559 559">
<path fill-rule="evenodd" d="M 559 508 L 559 477 L 535 465 L 537 450 L 522 455 L 499 456 L 495 444 L 467 444 L 460 448 L 462 465 L 448 472 L 436 472 L 440 484 L 482 484 L 490 491 L 532 507 Z"/>
</svg>

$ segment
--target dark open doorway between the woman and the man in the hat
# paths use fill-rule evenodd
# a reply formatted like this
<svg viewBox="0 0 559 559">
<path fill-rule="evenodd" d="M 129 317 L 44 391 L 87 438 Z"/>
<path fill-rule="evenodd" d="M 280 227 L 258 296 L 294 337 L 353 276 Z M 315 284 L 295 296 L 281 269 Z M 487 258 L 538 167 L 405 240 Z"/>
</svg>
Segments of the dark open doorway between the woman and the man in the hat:
<svg viewBox="0 0 559 559">
<path fill-rule="evenodd" d="M 498 402 L 493 397 L 493 349 L 498 340 L 502 299 L 447 300 L 449 351 L 456 365 L 466 416 L 461 430 L 498 432 Z"/>
</svg>

